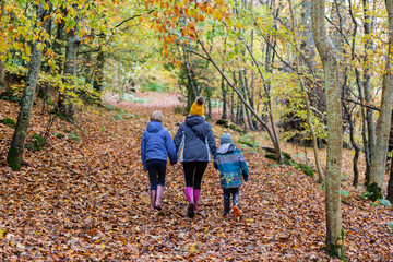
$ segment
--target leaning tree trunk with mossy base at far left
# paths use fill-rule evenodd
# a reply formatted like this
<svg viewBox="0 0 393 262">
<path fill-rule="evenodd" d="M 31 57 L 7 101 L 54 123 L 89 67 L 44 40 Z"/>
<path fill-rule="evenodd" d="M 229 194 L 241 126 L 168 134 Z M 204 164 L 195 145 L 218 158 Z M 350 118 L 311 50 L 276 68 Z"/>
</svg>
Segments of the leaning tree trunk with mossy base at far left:
<svg viewBox="0 0 393 262">
<path fill-rule="evenodd" d="M 37 7 L 37 17 L 44 17 L 43 4 Z M 49 20 L 47 20 L 49 21 Z M 45 27 L 44 23 L 44 27 Z M 26 143 L 27 129 L 32 117 L 35 91 L 38 82 L 38 75 L 41 67 L 43 50 L 37 48 L 35 41 L 31 47 L 31 62 L 27 72 L 26 85 L 23 92 L 21 109 L 17 116 L 16 128 L 12 136 L 11 146 L 8 152 L 7 163 L 13 170 L 21 169 L 23 151 Z"/>
</svg>

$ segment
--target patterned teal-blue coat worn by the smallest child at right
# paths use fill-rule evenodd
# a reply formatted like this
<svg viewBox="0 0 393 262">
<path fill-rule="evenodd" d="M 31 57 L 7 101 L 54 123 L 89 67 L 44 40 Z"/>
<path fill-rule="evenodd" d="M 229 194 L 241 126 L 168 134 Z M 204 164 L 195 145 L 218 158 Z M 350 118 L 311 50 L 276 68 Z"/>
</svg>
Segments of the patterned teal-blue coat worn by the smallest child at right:
<svg viewBox="0 0 393 262">
<path fill-rule="evenodd" d="M 245 157 L 235 144 L 223 144 L 217 150 L 214 167 L 219 170 L 221 187 L 240 188 L 242 178 L 248 180 L 249 170 Z"/>
</svg>

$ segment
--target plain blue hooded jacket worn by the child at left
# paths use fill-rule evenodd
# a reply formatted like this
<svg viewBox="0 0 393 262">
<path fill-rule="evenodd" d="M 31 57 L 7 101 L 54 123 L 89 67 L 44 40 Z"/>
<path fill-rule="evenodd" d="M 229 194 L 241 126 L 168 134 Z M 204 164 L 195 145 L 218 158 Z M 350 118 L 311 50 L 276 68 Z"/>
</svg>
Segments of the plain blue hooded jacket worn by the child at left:
<svg viewBox="0 0 393 262">
<path fill-rule="evenodd" d="M 167 160 L 167 155 L 169 155 L 171 164 L 177 163 L 174 140 L 160 122 L 151 121 L 147 123 L 147 128 L 142 135 L 141 155 L 145 170 L 147 169 L 146 160 Z"/>
</svg>

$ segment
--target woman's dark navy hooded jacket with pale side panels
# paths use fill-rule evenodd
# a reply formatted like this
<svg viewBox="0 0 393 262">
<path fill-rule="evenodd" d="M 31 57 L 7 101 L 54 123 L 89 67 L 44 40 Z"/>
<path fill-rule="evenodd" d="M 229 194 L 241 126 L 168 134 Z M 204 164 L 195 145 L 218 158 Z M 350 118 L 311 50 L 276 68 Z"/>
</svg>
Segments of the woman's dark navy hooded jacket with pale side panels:
<svg viewBox="0 0 393 262">
<path fill-rule="evenodd" d="M 191 115 L 180 124 L 175 139 L 180 162 L 210 162 L 215 157 L 216 145 L 212 127 L 203 117 Z"/>
</svg>

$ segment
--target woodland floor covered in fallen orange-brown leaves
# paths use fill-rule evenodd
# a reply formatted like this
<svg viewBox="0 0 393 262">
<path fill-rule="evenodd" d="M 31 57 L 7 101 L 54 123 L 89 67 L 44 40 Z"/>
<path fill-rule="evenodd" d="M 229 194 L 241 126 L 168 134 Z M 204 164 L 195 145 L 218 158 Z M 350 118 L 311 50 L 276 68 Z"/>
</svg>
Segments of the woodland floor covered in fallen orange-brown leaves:
<svg viewBox="0 0 393 262">
<path fill-rule="evenodd" d="M 144 97 L 150 99 L 118 103 L 106 97 L 114 109 L 79 110 L 75 120 L 82 129 L 57 119 L 45 150 L 25 151 L 21 171 L 7 166 L 13 129 L 0 123 L 1 261 L 335 261 L 323 249 L 324 191 L 315 179 L 247 146 L 241 147 L 250 169 L 240 191 L 242 221 L 223 218 L 218 174 L 211 164 L 198 216 L 186 217 L 180 165 L 168 167 L 164 212 L 151 215 L 139 150 L 142 132 L 153 109 L 164 111 L 172 135 L 184 116 L 174 114 L 176 94 Z M 16 104 L 0 100 L 0 119 L 16 119 Z M 48 117 L 39 112 L 40 100 L 33 111 L 29 141 L 45 131 Z M 240 139 L 212 127 L 217 142 L 223 132 Z M 270 146 L 263 132 L 249 136 Z M 311 148 L 286 143 L 283 147 L 296 160 L 308 158 L 312 165 Z M 321 154 L 324 159 L 325 152 Z M 350 186 L 352 158 L 345 151 L 346 257 L 393 261 L 393 234 L 386 225 L 393 221 L 393 210 L 360 199 L 364 189 Z"/>
</svg>

